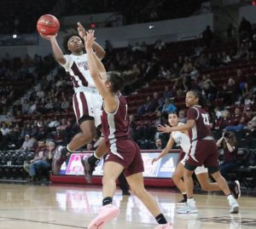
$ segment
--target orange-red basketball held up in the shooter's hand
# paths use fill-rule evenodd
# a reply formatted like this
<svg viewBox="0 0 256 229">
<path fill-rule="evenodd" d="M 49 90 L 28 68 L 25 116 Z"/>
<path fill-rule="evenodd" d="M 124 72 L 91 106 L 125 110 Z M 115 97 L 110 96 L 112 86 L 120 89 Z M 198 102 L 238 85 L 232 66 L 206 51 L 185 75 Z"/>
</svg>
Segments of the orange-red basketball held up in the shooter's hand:
<svg viewBox="0 0 256 229">
<path fill-rule="evenodd" d="M 60 29 L 60 22 L 54 15 L 44 14 L 38 19 L 38 32 L 47 35 L 55 35 Z"/>
</svg>

